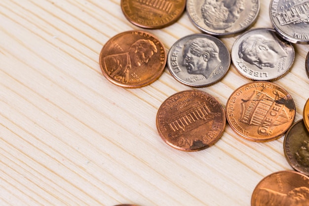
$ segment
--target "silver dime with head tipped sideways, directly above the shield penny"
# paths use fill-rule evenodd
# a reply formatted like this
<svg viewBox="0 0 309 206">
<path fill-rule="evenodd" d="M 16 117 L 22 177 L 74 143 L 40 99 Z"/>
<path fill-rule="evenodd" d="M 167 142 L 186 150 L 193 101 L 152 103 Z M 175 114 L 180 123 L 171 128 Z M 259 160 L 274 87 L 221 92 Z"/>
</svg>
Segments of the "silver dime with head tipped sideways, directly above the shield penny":
<svg viewBox="0 0 309 206">
<path fill-rule="evenodd" d="M 275 81 L 286 75 L 295 51 L 272 29 L 253 29 L 239 36 L 232 46 L 232 62 L 237 72 L 253 81 Z"/>
</svg>

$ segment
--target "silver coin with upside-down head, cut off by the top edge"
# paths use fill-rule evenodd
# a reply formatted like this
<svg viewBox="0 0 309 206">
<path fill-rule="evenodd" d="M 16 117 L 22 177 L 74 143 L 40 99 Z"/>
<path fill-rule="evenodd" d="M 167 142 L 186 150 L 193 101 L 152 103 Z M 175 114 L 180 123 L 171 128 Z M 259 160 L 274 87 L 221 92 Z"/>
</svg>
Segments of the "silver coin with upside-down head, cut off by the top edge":
<svg viewBox="0 0 309 206">
<path fill-rule="evenodd" d="M 191 21 L 202 32 L 231 36 L 256 21 L 260 0 L 187 0 L 186 6 Z"/>
</svg>

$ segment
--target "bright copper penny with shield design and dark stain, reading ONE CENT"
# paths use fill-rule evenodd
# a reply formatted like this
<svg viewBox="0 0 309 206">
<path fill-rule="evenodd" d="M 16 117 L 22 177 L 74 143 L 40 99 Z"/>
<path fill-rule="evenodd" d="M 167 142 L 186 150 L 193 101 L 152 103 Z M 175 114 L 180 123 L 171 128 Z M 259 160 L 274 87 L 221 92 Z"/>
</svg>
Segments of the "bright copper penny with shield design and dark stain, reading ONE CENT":
<svg viewBox="0 0 309 206">
<path fill-rule="evenodd" d="M 290 94 L 272 82 L 250 82 L 237 88 L 226 105 L 227 119 L 240 137 L 267 142 L 281 137 L 295 118 Z"/>
</svg>

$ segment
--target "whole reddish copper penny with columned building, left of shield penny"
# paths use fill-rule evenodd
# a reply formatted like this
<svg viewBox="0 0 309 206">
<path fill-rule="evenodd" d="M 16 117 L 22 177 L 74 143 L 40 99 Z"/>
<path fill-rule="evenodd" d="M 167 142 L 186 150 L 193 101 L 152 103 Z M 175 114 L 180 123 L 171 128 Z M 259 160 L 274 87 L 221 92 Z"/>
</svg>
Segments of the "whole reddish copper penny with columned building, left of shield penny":
<svg viewBox="0 0 309 206">
<path fill-rule="evenodd" d="M 168 97 L 156 114 L 156 128 L 171 147 L 198 151 L 215 144 L 222 136 L 226 117 L 222 105 L 199 90 L 186 90 Z"/>
</svg>

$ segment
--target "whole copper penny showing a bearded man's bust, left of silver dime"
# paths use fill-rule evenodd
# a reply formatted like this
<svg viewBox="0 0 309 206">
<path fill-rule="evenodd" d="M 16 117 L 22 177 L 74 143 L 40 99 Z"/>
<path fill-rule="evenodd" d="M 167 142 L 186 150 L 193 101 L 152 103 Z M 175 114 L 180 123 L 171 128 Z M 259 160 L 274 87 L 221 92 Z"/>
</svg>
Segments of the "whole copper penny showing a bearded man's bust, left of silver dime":
<svg viewBox="0 0 309 206">
<path fill-rule="evenodd" d="M 100 53 L 103 75 L 126 88 L 146 86 L 157 80 L 166 64 L 164 45 L 154 35 L 127 31 L 111 38 Z"/>
</svg>

